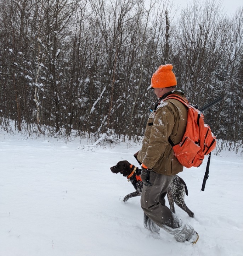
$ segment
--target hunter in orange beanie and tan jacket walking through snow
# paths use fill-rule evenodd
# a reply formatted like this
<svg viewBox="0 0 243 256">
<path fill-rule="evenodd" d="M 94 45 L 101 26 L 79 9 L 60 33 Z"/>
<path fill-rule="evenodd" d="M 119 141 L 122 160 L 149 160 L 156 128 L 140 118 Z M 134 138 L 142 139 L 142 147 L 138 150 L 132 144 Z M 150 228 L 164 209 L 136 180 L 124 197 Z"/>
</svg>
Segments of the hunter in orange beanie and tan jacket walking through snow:
<svg viewBox="0 0 243 256">
<path fill-rule="evenodd" d="M 170 140 L 181 142 L 187 124 L 187 108 L 179 100 L 163 99 L 170 94 L 185 97 L 176 90 L 176 77 L 171 64 L 162 65 L 151 78 L 148 89 L 154 89 L 158 104 L 149 115 L 142 148 L 137 159 L 142 163 L 143 190 L 141 207 L 145 227 L 152 232 L 159 228 L 174 235 L 176 241 L 196 243 L 199 236 L 191 225 L 183 223 L 167 206 L 165 196 L 174 176 L 183 171 L 176 159 Z"/>
</svg>

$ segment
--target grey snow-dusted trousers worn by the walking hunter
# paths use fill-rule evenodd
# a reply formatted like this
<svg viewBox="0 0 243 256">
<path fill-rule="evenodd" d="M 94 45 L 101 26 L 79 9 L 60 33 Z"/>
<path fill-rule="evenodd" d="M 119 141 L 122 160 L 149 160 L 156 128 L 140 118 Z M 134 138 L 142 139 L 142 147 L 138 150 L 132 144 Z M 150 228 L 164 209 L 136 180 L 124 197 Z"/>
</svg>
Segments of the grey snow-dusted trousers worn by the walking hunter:
<svg viewBox="0 0 243 256">
<path fill-rule="evenodd" d="M 194 231 L 193 227 L 182 223 L 181 220 L 171 212 L 170 208 L 165 206 L 165 196 L 168 186 L 172 182 L 173 178 L 174 175 L 166 176 L 151 171 L 150 182 L 152 183 L 152 186 L 148 187 L 143 185 L 141 207 L 145 213 L 145 218 L 147 216 L 150 219 L 150 225 L 151 222 L 154 222 L 160 228 L 174 235 L 176 241 L 184 242 L 192 236 Z M 146 223 L 145 227 L 148 228 Z"/>
</svg>

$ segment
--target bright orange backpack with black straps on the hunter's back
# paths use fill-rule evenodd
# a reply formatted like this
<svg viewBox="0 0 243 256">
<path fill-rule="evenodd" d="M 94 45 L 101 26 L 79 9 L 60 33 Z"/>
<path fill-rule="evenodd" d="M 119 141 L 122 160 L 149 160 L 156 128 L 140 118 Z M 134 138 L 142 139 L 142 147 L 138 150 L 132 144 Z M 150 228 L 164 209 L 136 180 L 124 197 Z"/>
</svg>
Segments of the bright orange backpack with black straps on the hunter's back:
<svg viewBox="0 0 243 256">
<path fill-rule="evenodd" d="M 173 147 L 175 157 L 185 167 L 199 167 L 204 156 L 213 151 L 216 147 L 216 137 L 213 135 L 209 125 L 204 123 L 204 115 L 188 100 L 186 102 L 177 94 L 170 94 L 164 100 L 177 99 L 188 108 L 186 131 L 182 141 Z"/>
</svg>

